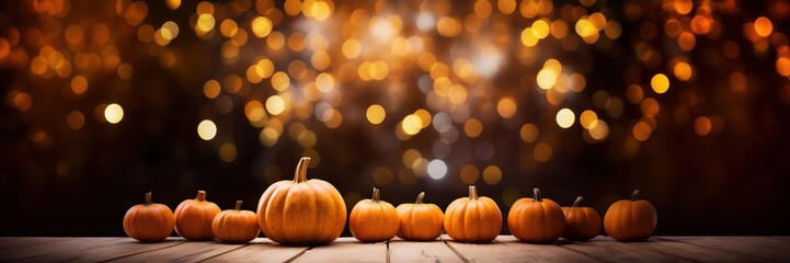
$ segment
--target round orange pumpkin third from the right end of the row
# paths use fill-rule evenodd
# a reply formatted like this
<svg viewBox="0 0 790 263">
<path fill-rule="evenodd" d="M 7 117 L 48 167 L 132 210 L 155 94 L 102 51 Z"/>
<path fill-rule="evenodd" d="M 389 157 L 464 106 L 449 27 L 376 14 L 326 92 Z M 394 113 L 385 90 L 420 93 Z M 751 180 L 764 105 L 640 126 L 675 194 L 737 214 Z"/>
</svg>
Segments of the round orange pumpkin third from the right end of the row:
<svg viewBox="0 0 790 263">
<path fill-rule="evenodd" d="M 533 198 L 520 198 L 511 207 L 507 228 L 518 240 L 531 243 L 551 243 L 565 228 L 565 216 L 560 205 L 540 195 L 534 188 Z"/>
</svg>

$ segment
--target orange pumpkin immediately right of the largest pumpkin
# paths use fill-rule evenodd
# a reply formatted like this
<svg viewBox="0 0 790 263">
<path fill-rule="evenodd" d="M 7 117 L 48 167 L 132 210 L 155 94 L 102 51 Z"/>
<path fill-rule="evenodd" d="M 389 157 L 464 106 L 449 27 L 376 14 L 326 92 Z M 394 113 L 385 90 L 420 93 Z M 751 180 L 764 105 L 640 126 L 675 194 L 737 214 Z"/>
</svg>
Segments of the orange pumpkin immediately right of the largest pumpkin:
<svg viewBox="0 0 790 263">
<path fill-rule="evenodd" d="M 400 227 L 398 210 L 379 199 L 379 190 L 373 188 L 373 198 L 356 203 L 351 209 L 348 228 L 354 238 L 363 242 L 381 242 L 394 238 Z"/>
</svg>

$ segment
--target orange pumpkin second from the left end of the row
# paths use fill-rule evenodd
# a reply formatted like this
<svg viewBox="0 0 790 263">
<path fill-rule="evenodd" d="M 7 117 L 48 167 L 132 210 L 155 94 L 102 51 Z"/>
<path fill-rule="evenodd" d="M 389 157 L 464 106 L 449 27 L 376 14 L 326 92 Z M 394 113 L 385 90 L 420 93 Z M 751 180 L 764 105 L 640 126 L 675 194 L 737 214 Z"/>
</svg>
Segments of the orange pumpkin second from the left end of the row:
<svg viewBox="0 0 790 263">
<path fill-rule="evenodd" d="M 217 204 L 206 201 L 206 191 L 197 191 L 197 197 L 175 208 L 175 232 L 187 240 L 211 240 L 211 221 L 219 211 Z"/>
</svg>

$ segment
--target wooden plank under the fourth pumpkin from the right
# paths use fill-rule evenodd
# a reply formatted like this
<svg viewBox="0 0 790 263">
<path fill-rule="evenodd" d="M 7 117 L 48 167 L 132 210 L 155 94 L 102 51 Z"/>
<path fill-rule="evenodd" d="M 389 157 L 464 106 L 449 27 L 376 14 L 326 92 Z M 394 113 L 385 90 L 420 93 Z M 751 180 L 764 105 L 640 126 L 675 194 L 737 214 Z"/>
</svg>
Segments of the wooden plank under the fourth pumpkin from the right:
<svg viewBox="0 0 790 263">
<path fill-rule="evenodd" d="M 599 262 L 556 244 L 529 244 L 512 236 L 500 236 L 492 243 L 465 243 L 443 235 L 442 239 L 466 262 Z"/>
</svg>

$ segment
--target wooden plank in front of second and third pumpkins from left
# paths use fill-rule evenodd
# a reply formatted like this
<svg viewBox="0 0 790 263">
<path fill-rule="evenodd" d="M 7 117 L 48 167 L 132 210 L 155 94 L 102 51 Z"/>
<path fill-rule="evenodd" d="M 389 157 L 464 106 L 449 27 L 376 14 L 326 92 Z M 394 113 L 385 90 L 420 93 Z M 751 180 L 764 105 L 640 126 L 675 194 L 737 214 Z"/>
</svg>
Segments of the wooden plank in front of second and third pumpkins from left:
<svg viewBox="0 0 790 263">
<path fill-rule="evenodd" d="M 225 244 L 216 241 L 191 242 L 173 245 L 147 253 L 133 254 L 111 262 L 197 262 L 208 260 L 245 244 Z"/>
</svg>

